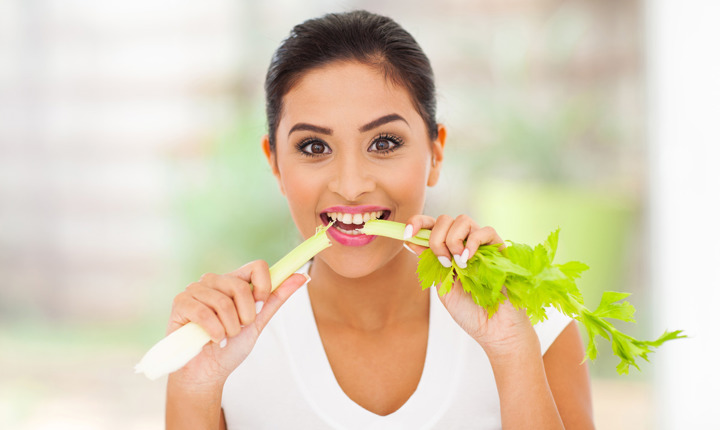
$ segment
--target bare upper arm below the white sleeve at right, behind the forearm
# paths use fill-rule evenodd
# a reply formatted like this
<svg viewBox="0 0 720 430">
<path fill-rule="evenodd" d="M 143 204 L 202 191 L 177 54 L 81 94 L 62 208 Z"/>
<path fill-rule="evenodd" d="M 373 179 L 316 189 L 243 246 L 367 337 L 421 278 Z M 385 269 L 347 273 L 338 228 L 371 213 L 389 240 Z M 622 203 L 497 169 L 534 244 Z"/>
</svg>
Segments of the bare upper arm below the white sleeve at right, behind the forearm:
<svg viewBox="0 0 720 430">
<path fill-rule="evenodd" d="M 594 429 L 590 373 L 577 322 L 572 321 L 543 356 L 545 374 L 566 429 Z"/>
</svg>

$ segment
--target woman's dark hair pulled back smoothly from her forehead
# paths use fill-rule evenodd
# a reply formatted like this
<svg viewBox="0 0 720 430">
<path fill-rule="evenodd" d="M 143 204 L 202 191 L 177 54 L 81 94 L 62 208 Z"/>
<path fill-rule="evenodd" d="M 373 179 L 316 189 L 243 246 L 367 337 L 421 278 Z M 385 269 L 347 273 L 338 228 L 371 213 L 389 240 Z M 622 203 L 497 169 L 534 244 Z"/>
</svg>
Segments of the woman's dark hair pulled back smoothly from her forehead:
<svg viewBox="0 0 720 430">
<path fill-rule="evenodd" d="M 364 10 L 331 13 L 296 25 L 272 57 L 265 78 L 270 147 L 282 114 L 282 98 L 307 71 L 333 61 L 354 60 L 380 68 L 408 90 L 415 109 L 437 138 L 432 67 L 415 39 L 390 18 Z"/>
</svg>

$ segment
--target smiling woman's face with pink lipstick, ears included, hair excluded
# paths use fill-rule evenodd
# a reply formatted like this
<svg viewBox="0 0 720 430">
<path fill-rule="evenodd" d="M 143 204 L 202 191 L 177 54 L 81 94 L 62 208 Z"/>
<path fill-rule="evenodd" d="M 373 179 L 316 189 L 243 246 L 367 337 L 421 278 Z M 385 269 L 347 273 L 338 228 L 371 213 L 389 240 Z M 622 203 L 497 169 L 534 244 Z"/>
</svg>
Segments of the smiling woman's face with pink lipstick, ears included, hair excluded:
<svg viewBox="0 0 720 430">
<path fill-rule="evenodd" d="M 267 137 L 263 146 L 303 237 L 335 220 L 333 246 L 316 258 L 360 277 L 402 245 L 354 230 L 369 218 L 404 222 L 422 213 L 444 139 L 440 126 L 430 141 L 407 90 L 367 65 L 335 62 L 306 73 L 285 95 L 275 153 Z"/>
</svg>

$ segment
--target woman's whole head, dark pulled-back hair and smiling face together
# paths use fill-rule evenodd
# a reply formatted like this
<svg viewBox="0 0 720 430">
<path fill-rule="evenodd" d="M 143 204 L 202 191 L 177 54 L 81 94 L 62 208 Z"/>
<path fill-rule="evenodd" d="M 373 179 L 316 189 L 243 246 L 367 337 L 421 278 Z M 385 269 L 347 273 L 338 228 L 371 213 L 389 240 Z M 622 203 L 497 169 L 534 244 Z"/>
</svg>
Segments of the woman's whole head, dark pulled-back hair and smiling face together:
<svg viewBox="0 0 720 430">
<path fill-rule="evenodd" d="M 344 36 L 332 38 L 318 26 L 337 27 Z M 302 40 L 291 43 L 296 37 Z M 365 276 L 402 247 L 358 235 L 358 224 L 422 213 L 426 187 L 438 179 L 445 129 L 433 118 L 428 60 L 397 24 L 366 12 L 302 24 L 279 52 L 268 72 L 264 152 L 304 237 L 336 221 L 329 234 L 339 246 L 319 261 L 346 277 Z"/>
</svg>

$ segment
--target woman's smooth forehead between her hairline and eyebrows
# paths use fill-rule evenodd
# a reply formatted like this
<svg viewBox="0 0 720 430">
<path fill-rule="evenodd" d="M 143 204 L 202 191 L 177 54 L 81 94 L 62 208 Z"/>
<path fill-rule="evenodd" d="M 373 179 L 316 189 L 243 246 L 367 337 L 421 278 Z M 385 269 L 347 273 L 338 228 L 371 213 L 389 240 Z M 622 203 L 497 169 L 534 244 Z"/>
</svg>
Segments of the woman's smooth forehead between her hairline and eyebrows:
<svg viewBox="0 0 720 430">
<path fill-rule="evenodd" d="M 386 79 L 380 68 L 334 62 L 307 72 L 283 97 L 278 135 L 297 122 L 359 127 L 389 113 L 403 116 L 411 127 L 424 126 L 407 89 Z"/>
</svg>

